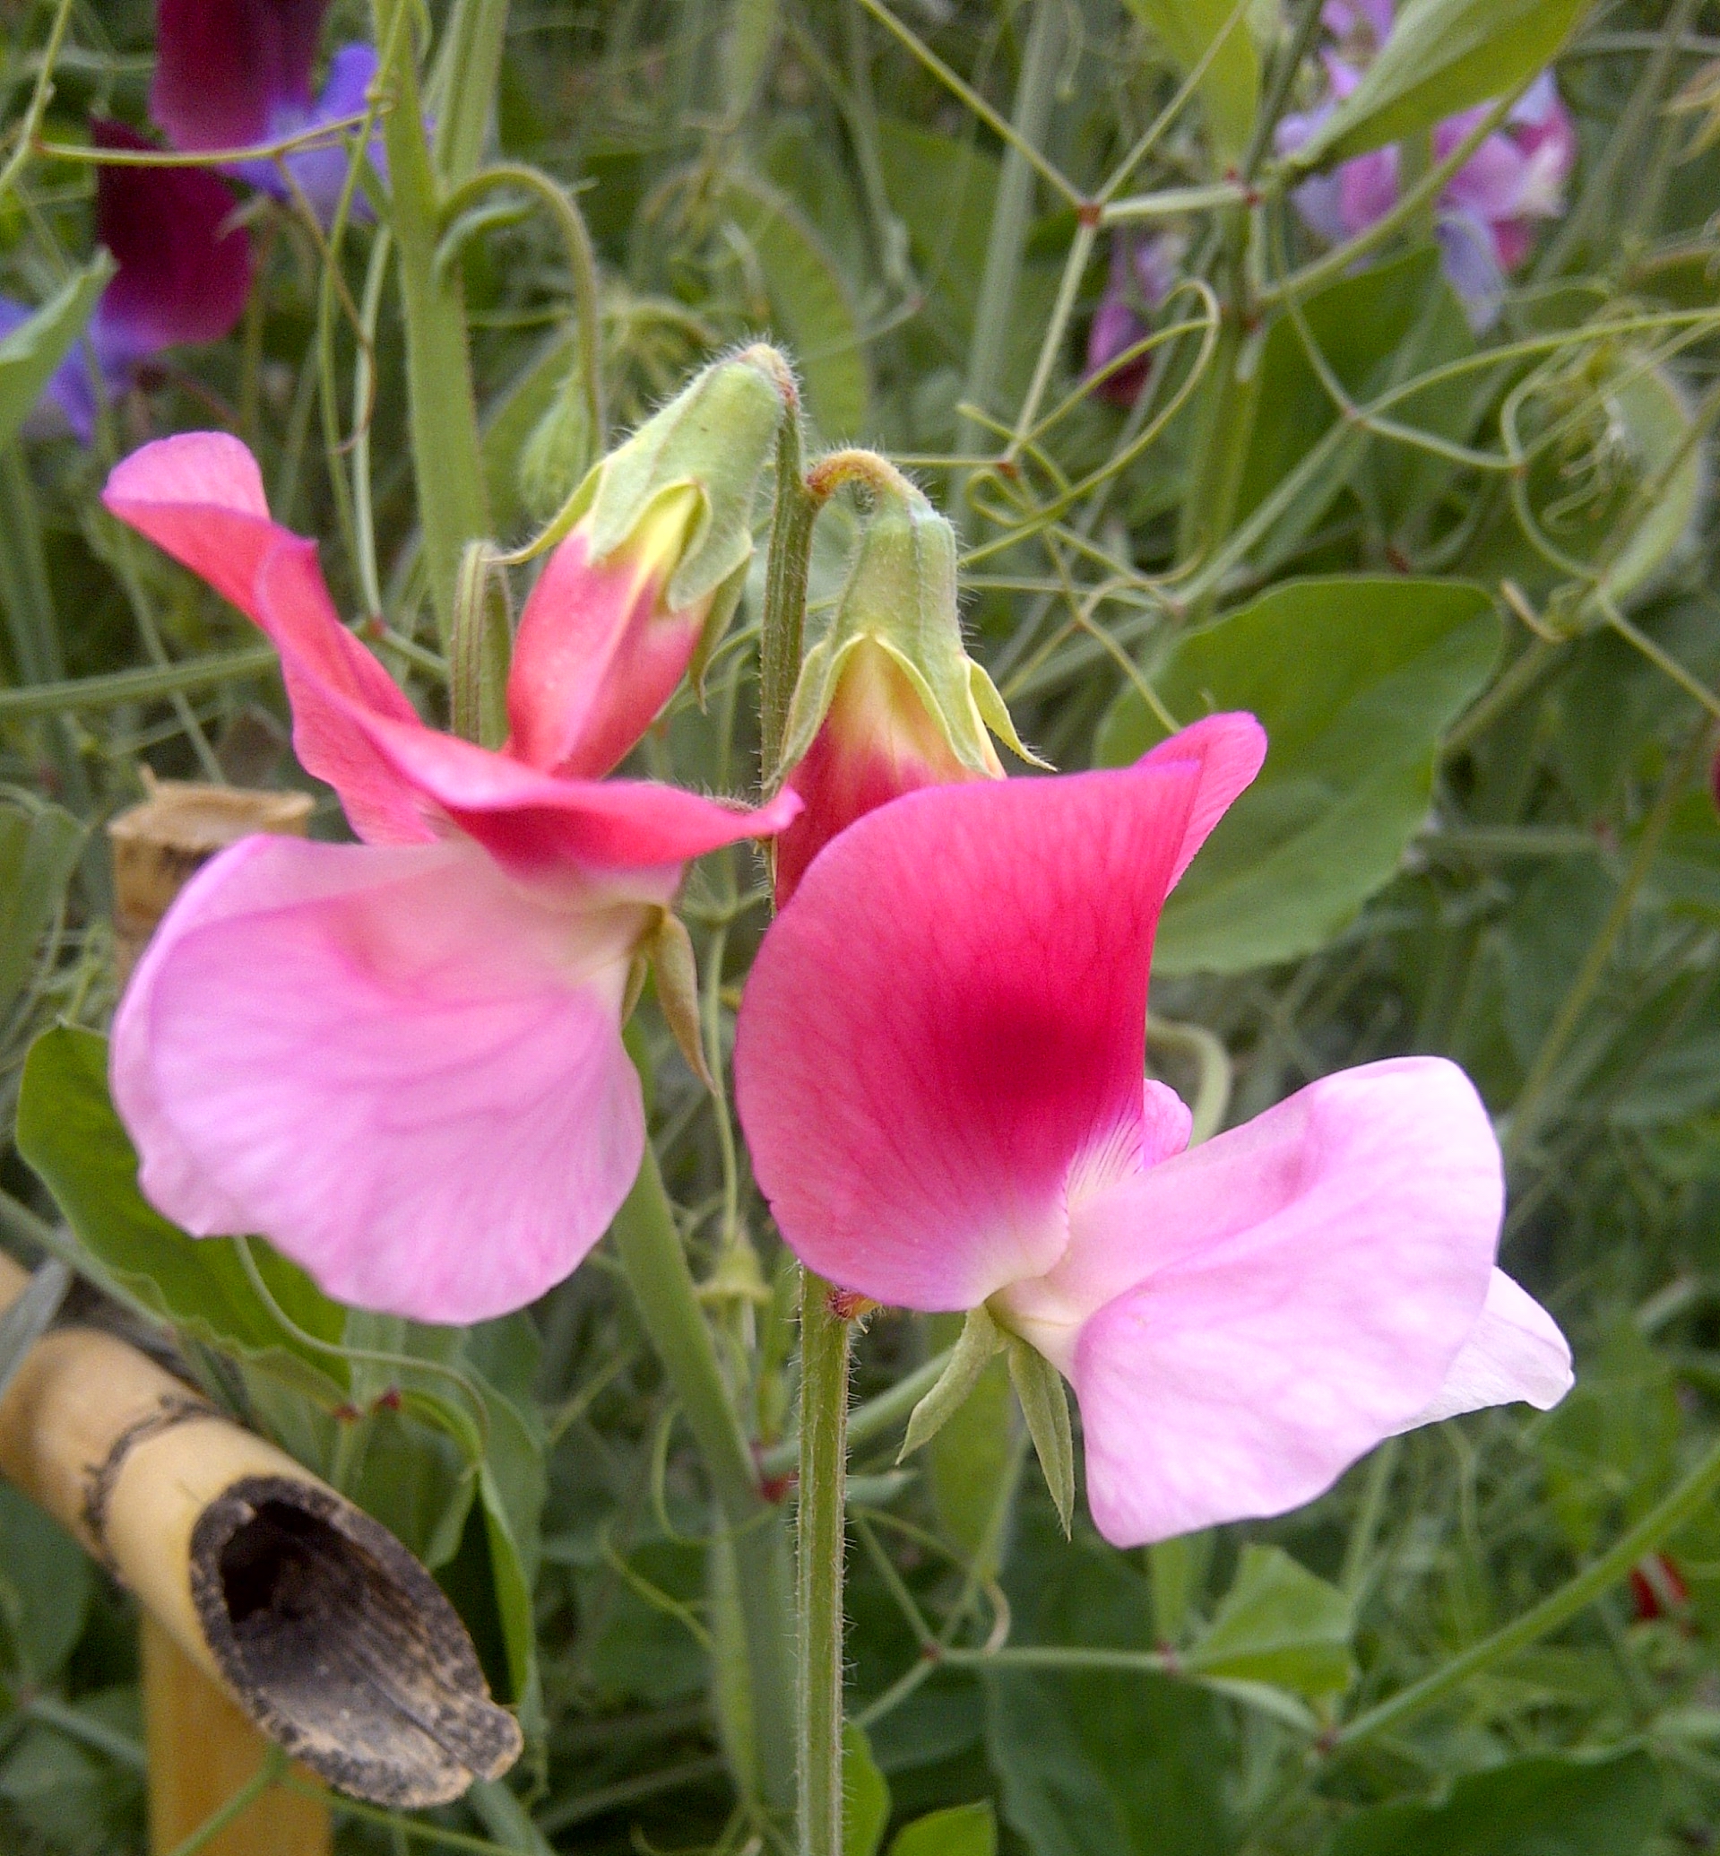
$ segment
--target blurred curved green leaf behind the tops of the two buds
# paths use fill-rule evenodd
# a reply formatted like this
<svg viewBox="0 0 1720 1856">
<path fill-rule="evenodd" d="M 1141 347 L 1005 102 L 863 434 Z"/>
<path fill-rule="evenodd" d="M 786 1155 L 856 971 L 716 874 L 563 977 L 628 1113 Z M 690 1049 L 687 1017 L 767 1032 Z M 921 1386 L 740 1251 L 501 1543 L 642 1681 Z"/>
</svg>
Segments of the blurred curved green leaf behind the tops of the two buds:
<svg viewBox="0 0 1720 1856">
<path fill-rule="evenodd" d="M 746 239 L 770 297 L 774 332 L 794 356 L 807 410 L 831 440 L 866 429 L 870 377 L 848 286 L 805 215 L 768 182 L 731 173 L 722 210 Z"/>
</svg>

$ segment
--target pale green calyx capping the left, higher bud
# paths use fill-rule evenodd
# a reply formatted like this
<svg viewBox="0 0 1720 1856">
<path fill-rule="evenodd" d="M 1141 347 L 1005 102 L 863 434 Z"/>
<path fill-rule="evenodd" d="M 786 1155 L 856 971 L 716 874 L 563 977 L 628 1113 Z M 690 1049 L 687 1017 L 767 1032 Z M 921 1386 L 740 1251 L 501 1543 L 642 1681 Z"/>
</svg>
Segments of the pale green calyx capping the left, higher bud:
<svg viewBox="0 0 1720 1856">
<path fill-rule="evenodd" d="M 690 484 L 701 509 L 664 599 L 677 612 L 705 598 L 716 607 L 751 559 L 753 492 L 781 418 L 781 384 L 763 362 L 746 356 L 714 362 L 592 466 L 564 520 L 571 518 L 570 527 L 586 522 L 592 561 L 605 561 L 664 490 Z M 727 612 L 733 611 L 729 599 Z"/>
</svg>

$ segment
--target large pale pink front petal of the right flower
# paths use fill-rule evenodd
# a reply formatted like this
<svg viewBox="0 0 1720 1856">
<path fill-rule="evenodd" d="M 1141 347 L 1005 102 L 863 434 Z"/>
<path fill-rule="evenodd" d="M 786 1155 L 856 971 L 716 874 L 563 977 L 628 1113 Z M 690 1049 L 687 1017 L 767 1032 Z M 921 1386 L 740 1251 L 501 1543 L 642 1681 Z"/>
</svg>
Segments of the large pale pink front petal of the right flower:
<svg viewBox="0 0 1720 1856">
<path fill-rule="evenodd" d="M 1048 1294 L 1017 1325 L 1071 1375 L 1100 1533 L 1282 1514 L 1416 1422 L 1501 1208 L 1492 1123 L 1440 1058 L 1327 1076 L 1078 1208 L 1063 1325 Z"/>
</svg>

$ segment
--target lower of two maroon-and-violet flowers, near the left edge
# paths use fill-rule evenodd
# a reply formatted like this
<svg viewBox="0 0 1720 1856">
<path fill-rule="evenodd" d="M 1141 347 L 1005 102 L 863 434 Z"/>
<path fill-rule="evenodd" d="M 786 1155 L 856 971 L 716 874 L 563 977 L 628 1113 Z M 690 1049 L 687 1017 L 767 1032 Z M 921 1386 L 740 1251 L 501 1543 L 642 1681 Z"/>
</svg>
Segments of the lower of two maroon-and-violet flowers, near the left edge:
<svg viewBox="0 0 1720 1856">
<path fill-rule="evenodd" d="M 122 122 L 91 122 L 96 148 L 150 148 Z M 237 202 L 213 174 L 191 167 L 96 169 L 96 241 L 115 273 L 96 303 L 85 342 L 54 369 L 45 401 L 80 444 L 95 436 L 96 382 L 115 399 L 163 349 L 219 342 L 245 314 L 250 238 L 228 219 Z M 32 310 L 0 297 L 0 336 Z"/>
</svg>

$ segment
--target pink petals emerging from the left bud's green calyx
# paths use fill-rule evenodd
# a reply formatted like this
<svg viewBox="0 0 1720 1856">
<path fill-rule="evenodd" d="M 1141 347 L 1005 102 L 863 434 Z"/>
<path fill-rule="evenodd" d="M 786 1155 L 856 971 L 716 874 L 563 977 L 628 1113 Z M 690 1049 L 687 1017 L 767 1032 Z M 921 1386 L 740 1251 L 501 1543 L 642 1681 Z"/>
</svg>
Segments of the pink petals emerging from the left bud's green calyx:
<svg viewBox="0 0 1720 1856">
<path fill-rule="evenodd" d="M 525 601 L 508 672 L 508 746 L 544 772 L 596 780 L 674 696 L 705 603 L 659 612 L 664 574 L 642 572 L 629 549 L 592 564 L 588 542 L 575 529 Z"/>
</svg>

